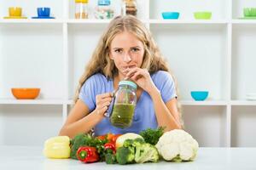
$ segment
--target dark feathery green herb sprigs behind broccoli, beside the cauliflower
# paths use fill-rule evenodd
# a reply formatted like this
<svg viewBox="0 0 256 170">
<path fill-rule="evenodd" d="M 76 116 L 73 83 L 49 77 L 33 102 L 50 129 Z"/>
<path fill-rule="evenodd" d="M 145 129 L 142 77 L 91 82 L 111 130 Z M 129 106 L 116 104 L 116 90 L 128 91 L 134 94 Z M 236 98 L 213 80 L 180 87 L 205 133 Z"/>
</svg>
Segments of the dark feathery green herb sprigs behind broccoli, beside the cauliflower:
<svg viewBox="0 0 256 170">
<path fill-rule="evenodd" d="M 143 136 L 146 143 L 155 145 L 163 135 L 164 130 L 165 127 L 158 127 L 157 129 L 148 128 L 143 130 L 140 135 Z"/>
</svg>

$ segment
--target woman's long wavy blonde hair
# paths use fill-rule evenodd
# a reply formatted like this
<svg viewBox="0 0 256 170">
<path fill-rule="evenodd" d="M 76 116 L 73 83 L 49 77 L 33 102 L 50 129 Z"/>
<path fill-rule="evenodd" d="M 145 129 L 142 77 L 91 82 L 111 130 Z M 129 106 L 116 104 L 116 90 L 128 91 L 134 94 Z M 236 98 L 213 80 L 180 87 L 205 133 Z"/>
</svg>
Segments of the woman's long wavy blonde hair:
<svg viewBox="0 0 256 170">
<path fill-rule="evenodd" d="M 124 31 L 132 33 L 143 42 L 145 53 L 141 68 L 147 69 L 149 74 L 153 74 L 156 71 L 168 71 L 172 75 L 167 62 L 164 60 L 162 54 L 160 54 L 160 49 L 154 42 L 154 38 L 143 23 L 131 15 L 117 16 L 109 23 L 108 29 L 103 33 L 90 61 L 85 66 L 84 73 L 79 79 L 79 86 L 74 96 L 74 103 L 79 99 L 80 89 L 84 82 L 92 75 L 102 73 L 108 78 L 113 78 L 118 75 L 118 69 L 115 67 L 113 60 L 109 58 L 110 44 L 113 37 Z M 178 94 L 176 78 L 173 77 L 173 75 L 172 78 L 175 82 L 176 93 Z M 181 105 L 179 105 L 179 102 L 177 102 L 177 109 L 180 114 L 180 123 L 183 125 Z"/>
</svg>

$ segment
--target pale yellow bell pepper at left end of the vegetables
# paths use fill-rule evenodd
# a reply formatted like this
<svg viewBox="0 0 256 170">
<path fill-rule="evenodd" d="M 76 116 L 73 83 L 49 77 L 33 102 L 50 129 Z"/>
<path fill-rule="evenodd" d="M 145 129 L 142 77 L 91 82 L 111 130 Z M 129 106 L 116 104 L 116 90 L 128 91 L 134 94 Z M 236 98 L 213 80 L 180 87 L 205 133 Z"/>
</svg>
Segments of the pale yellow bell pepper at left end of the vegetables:
<svg viewBox="0 0 256 170">
<path fill-rule="evenodd" d="M 70 139 L 67 136 L 56 136 L 44 142 L 44 156 L 64 159 L 70 156 Z"/>
</svg>

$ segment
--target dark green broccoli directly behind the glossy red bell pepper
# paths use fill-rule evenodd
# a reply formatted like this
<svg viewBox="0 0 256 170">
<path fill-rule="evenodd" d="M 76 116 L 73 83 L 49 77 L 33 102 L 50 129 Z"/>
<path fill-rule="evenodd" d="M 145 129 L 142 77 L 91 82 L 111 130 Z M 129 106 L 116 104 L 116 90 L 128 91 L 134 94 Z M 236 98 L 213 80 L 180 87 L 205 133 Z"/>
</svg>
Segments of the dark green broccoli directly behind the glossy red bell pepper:
<svg viewBox="0 0 256 170">
<path fill-rule="evenodd" d="M 76 156 L 77 150 L 80 146 L 93 146 L 96 147 L 98 154 L 103 161 L 104 157 L 104 144 L 108 142 L 108 139 L 96 139 L 90 136 L 90 134 L 80 133 L 71 140 L 71 154 L 70 157 L 78 159 Z"/>
</svg>

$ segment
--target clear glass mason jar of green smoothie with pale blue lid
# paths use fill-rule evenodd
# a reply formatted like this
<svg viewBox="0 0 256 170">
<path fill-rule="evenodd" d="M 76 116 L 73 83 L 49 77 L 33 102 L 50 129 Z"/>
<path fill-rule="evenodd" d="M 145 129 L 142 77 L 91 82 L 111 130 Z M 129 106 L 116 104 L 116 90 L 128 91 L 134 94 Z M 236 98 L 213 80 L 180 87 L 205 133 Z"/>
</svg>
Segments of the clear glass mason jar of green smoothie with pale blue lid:
<svg viewBox="0 0 256 170">
<path fill-rule="evenodd" d="M 113 110 L 110 122 L 114 127 L 130 127 L 137 103 L 137 84 L 131 81 L 120 81 L 119 88 L 114 94 Z"/>
</svg>

